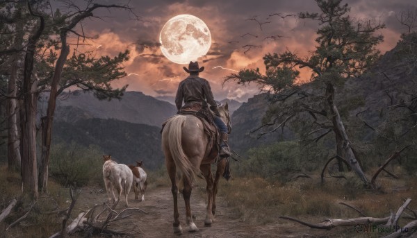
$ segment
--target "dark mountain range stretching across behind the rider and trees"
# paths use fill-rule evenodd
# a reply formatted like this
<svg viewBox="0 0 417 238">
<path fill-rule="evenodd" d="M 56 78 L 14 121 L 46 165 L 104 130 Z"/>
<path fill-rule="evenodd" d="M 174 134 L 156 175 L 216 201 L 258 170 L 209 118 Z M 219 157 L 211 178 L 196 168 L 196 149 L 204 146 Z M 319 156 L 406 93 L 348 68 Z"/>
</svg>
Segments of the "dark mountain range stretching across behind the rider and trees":
<svg viewBox="0 0 417 238">
<path fill-rule="evenodd" d="M 345 121 L 353 121 L 353 127 L 346 124 L 347 133 L 355 130 L 361 134 L 354 139 L 375 137 L 375 131 L 370 130 L 369 125 L 383 126 L 386 108 L 401 105 L 407 93 L 414 93 L 411 91 L 416 85 L 417 70 L 405 64 L 407 59 L 401 56 L 401 50 L 399 44 L 386 52 L 366 74 L 347 79 L 337 86 L 336 104 Z M 60 97 L 65 100 L 58 101 L 56 110 L 53 130 L 56 141 L 97 144 L 104 153 L 111 153 L 121 161 L 141 158 L 153 169 L 163 164 L 159 130 L 163 121 L 177 112 L 171 103 L 141 92 L 125 92 L 120 101 L 99 101 L 84 92 Z M 254 130 L 261 126 L 263 115 L 268 110 L 268 94 L 255 95 L 245 103 L 229 99 L 222 101 L 225 102 L 232 112 L 229 144 L 239 153 L 262 144 L 296 139 L 288 127 L 259 139 L 256 137 Z M 363 127 L 363 121 L 355 121 L 359 117 L 367 121 L 368 127 Z M 362 127 L 358 128 L 358 125 Z"/>
</svg>

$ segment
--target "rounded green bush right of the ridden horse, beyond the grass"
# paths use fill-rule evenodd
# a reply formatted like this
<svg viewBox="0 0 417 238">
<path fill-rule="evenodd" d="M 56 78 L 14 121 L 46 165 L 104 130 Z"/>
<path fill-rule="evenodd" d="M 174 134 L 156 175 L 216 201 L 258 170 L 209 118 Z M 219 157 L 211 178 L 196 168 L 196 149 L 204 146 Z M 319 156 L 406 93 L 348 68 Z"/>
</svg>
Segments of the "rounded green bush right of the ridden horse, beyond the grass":
<svg viewBox="0 0 417 238">
<path fill-rule="evenodd" d="M 236 173 L 240 176 L 271 178 L 285 176 L 288 171 L 302 168 L 298 142 L 277 142 L 251 148 L 247 157 L 242 164 L 236 164 Z"/>
</svg>

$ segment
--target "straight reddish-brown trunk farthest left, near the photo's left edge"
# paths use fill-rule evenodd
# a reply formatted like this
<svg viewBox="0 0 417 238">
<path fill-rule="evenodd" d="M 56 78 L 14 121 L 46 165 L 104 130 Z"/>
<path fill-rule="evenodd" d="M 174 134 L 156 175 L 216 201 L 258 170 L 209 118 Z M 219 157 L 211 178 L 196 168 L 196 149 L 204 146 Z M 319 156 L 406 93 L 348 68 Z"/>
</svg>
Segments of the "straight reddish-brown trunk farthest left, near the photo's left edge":
<svg viewBox="0 0 417 238">
<path fill-rule="evenodd" d="M 19 108 L 17 107 L 17 57 L 12 60 L 10 65 L 10 79 L 8 81 L 8 96 L 10 98 L 7 101 L 6 113 L 7 113 L 7 128 L 8 128 L 8 143 L 7 143 L 7 160 L 8 170 L 16 171 L 21 164 L 20 158 L 20 143 L 19 143 L 19 130 L 17 129 L 17 113 Z"/>
</svg>

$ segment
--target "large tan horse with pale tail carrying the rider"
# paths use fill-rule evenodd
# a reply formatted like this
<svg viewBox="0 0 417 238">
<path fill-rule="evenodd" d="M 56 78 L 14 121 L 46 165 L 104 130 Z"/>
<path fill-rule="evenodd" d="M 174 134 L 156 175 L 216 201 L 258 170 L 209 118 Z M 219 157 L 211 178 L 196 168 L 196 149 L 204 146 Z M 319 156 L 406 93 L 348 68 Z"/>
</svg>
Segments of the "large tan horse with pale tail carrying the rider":
<svg viewBox="0 0 417 238">
<path fill-rule="evenodd" d="M 229 108 L 226 105 L 219 107 L 220 117 L 227 124 L 229 133 L 231 131 L 231 121 Z M 162 148 L 165 155 L 165 166 L 171 180 L 171 192 L 174 200 L 174 233 L 181 234 L 182 228 L 179 223 L 178 212 L 178 193 L 179 187 L 183 186 L 182 194 L 186 204 L 186 223 L 189 226 L 189 232 L 198 231 L 193 221 L 190 209 L 190 196 L 193 189 L 195 176 L 202 172 L 206 179 L 207 207 L 204 226 L 211 226 L 215 214 L 215 196 L 218 192 L 218 182 L 220 176 L 224 173 L 227 160 L 220 160 L 217 164 L 215 178 L 211 174 L 211 160 L 213 146 L 209 142 L 208 135 L 204 132 L 202 121 L 192 114 L 177 114 L 167 120 L 162 131 Z M 218 153 L 218 151 L 216 152 Z M 177 173 L 180 176 L 177 180 Z"/>
</svg>

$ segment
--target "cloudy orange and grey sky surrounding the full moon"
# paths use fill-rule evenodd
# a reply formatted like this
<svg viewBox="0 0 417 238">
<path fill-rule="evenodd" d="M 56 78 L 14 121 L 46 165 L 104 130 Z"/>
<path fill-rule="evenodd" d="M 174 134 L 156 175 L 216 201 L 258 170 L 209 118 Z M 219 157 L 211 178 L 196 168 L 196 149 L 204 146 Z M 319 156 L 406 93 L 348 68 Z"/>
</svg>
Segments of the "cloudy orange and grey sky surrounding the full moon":
<svg viewBox="0 0 417 238">
<path fill-rule="evenodd" d="M 84 1 L 78 2 L 85 5 Z M 396 15 L 417 8 L 415 0 L 345 0 L 342 3 L 349 4 L 351 17 L 372 18 L 386 24 L 386 28 L 379 32 L 384 35 L 384 43 L 379 46 L 382 53 L 392 49 L 400 39 L 400 33 L 405 31 Z M 59 4 L 57 6 L 61 8 Z M 95 16 L 101 19 L 85 20 L 83 30 L 87 35 L 96 36 L 88 43 L 99 55 L 115 56 L 129 49 L 131 58 L 124 65 L 129 76 L 117 80 L 114 85 L 129 84 L 128 91 L 140 91 L 151 96 L 174 96 L 179 82 L 187 76 L 182 69 L 187 65 L 167 60 L 159 46 L 163 25 L 176 15 L 195 15 L 211 31 L 211 48 L 199 59 L 200 67 L 205 67 L 200 76 L 211 83 L 218 100 L 247 101 L 259 93 L 256 85 L 242 87 L 228 82 L 222 86 L 224 76 L 234 72 L 231 70 L 263 69 L 265 53 L 289 49 L 303 56 L 315 46 L 316 22 L 280 17 L 304 11 L 318 12 L 313 0 L 147 0 L 130 1 L 129 6 L 134 8 L 140 21 L 134 20 L 134 16 L 124 10 L 101 10 L 95 12 Z M 275 37 L 278 35 L 281 37 Z M 248 50 L 247 45 L 252 45 L 252 48 Z"/>
</svg>

